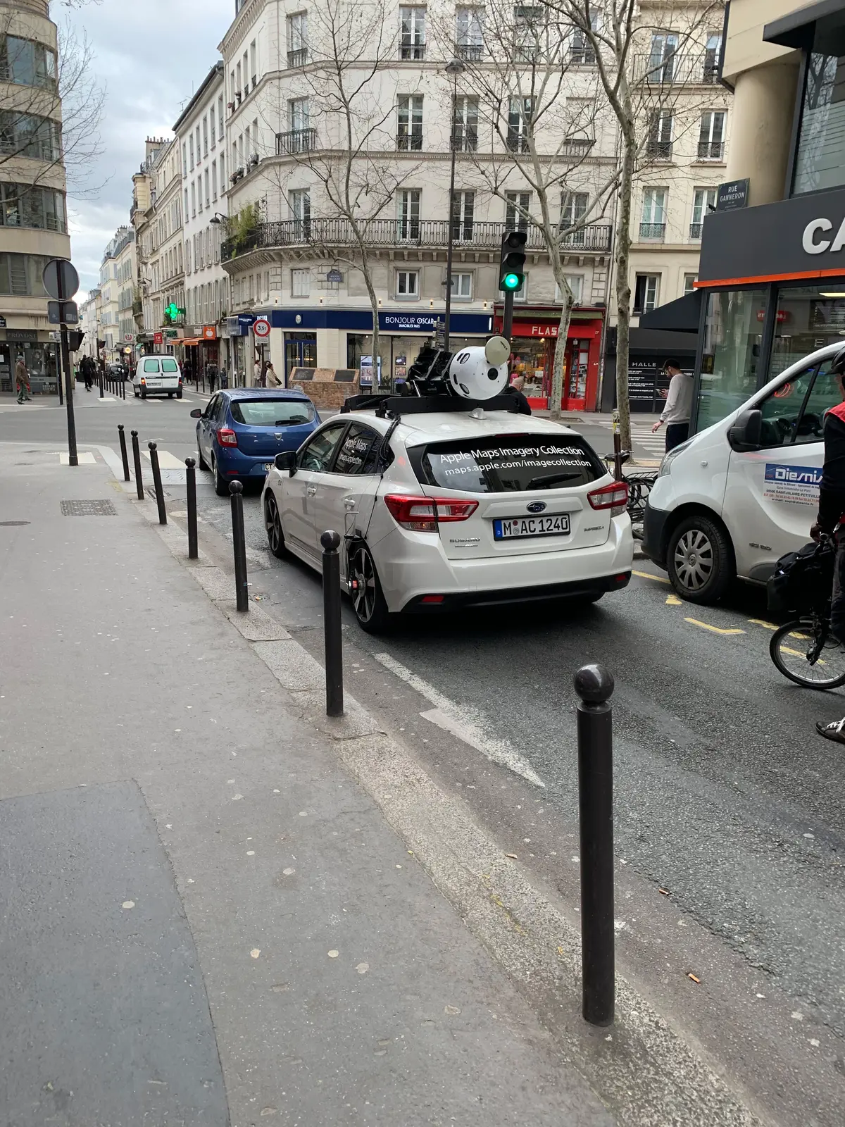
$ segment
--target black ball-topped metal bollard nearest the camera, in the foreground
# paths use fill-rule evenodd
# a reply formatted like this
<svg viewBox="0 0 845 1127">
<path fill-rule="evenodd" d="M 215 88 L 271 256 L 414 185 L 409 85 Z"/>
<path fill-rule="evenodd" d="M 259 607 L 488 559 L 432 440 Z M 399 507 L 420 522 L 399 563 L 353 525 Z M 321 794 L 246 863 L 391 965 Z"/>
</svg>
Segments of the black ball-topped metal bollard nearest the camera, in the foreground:
<svg viewBox="0 0 845 1127">
<path fill-rule="evenodd" d="M 578 814 L 581 838 L 582 1014 L 613 1022 L 613 676 L 602 665 L 575 675 L 578 702 Z"/>
</svg>

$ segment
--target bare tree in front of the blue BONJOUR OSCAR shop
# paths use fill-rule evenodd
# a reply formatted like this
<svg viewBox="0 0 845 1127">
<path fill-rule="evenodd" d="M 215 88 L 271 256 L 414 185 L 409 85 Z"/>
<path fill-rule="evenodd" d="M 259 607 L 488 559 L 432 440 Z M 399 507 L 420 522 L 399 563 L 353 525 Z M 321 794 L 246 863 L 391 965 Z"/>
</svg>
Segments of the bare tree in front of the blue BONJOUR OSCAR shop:
<svg viewBox="0 0 845 1127">
<path fill-rule="evenodd" d="M 398 57 L 392 12 L 381 0 L 323 0 L 309 9 L 306 34 L 300 25 L 296 43 L 288 44 L 308 62 L 292 88 L 297 97 L 288 94 L 287 105 L 272 113 L 275 123 L 287 119 L 288 125 L 277 134 L 279 159 L 269 175 L 294 216 L 293 241 L 305 241 L 361 273 L 373 314 L 374 364 L 380 355 L 376 228 L 417 168 L 410 154 L 421 148 L 412 107 L 394 128 L 397 103 L 385 97 L 388 71 Z M 308 215 L 293 194 L 296 169 L 308 169 L 318 189 L 314 199 L 309 196 Z"/>
</svg>

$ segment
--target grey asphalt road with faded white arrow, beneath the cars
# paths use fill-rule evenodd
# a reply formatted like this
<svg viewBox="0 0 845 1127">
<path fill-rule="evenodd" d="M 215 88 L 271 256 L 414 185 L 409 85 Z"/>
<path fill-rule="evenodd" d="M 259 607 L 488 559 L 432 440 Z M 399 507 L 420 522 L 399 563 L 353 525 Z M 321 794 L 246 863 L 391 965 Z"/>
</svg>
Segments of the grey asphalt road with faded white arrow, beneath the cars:
<svg viewBox="0 0 845 1127">
<path fill-rule="evenodd" d="M 116 447 L 124 421 L 184 458 L 194 450 L 188 411 L 199 403 L 186 397 L 80 405 L 79 441 Z M 0 440 L 59 441 L 61 426 L 54 410 L 0 408 Z M 606 429 L 579 429 L 605 449 Z M 179 494 L 171 488 L 174 508 Z M 203 483 L 198 505 L 201 540 L 224 557 L 228 502 Z M 244 511 L 251 592 L 319 653 L 319 577 L 269 556 L 257 492 Z M 534 879 L 577 904 L 572 674 L 605 663 L 616 680 L 623 969 L 705 1048 L 729 1053 L 749 1090 L 775 1101 L 779 1121 L 842 1122 L 845 749 L 813 726 L 845 715 L 845 693 L 781 677 L 758 593 L 742 587 L 724 605 L 693 607 L 650 565 L 635 567 L 626 591 L 594 606 L 412 620 L 383 639 L 361 632 L 346 606 L 347 685 Z M 441 696 L 466 717 L 469 738 L 421 716 Z M 813 1092 L 821 1110 L 815 1103 L 808 1119 Z"/>
</svg>

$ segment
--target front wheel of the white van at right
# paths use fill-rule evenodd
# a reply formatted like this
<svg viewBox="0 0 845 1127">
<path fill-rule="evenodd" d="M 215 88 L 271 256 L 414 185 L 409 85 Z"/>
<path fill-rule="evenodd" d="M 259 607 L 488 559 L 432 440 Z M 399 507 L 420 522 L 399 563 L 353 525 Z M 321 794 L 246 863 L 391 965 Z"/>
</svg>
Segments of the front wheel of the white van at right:
<svg viewBox="0 0 845 1127">
<path fill-rule="evenodd" d="M 669 535 L 666 569 L 682 598 L 718 603 L 737 574 L 728 533 L 705 513 L 685 517 Z"/>
</svg>

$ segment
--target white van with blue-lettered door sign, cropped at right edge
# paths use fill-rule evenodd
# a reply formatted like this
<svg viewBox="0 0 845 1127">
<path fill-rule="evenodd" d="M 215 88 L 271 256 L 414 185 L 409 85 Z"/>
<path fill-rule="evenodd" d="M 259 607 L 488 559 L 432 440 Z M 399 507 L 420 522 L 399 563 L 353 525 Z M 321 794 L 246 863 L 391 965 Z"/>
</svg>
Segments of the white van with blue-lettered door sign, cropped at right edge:
<svg viewBox="0 0 845 1127">
<path fill-rule="evenodd" d="M 713 603 L 737 576 L 765 583 L 781 556 L 810 539 L 825 412 L 843 399 L 830 365 L 843 346 L 792 364 L 664 458 L 643 550 L 683 598 Z"/>
</svg>

